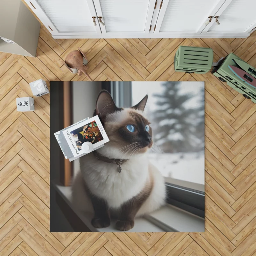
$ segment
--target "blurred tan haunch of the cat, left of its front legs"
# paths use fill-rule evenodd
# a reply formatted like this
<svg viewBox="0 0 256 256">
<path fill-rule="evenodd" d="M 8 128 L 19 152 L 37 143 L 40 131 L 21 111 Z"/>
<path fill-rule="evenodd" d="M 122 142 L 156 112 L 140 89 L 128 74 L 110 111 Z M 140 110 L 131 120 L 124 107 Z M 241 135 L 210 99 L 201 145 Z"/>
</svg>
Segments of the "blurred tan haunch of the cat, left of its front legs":
<svg viewBox="0 0 256 256">
<path fill-rule="evenodd" d="M 76 174 L 72 182 L 71 203 L 78 211 L 94 212 L 92 201 L 86 192 L 84 178 L 80 171 Z"/>
</svg>

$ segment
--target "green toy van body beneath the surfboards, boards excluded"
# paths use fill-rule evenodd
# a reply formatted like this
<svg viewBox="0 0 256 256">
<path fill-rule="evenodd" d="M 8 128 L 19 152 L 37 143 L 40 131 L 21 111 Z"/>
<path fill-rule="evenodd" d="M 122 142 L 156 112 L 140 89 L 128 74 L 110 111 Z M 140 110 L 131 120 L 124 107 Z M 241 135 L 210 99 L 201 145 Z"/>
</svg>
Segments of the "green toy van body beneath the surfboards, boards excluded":
<svg viewBox="0 0 256 256">
<path fill-rule="evenodd" d="M 251 99 L 252 102 L 256 103 L 256 89 L 244 83 L 228 68 L 228 65 L 238 67 L 236 63 L 233 61 L 233 59 L 242 60 L 239 57 L 237 57 L 234 53 L 229 53 L 227 57 L 225 57 L 218 63 L 217 67 L 214 67 L 212 69 L 212 74 L 214 76 L 217 76 L 220 79 L 220 81 L 227 82 L 227 84 L 230 87 L 235 89 L 237 92 L 242 93 L 245 98 Z"/>
</svg>

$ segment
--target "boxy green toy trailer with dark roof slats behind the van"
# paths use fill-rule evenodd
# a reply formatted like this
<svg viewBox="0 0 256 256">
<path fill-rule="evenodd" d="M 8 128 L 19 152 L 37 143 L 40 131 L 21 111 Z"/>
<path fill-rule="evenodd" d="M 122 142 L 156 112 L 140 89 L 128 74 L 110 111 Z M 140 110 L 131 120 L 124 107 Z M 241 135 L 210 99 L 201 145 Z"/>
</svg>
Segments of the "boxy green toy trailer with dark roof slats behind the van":
<svg viewBox="0 0 256 256">
<path fill-rule="evenodd" d="M 212 48 L 180 46 L 174 56 L 174 68 L 178 72 L 205 74 L 212 63 Z"/>
</svg>

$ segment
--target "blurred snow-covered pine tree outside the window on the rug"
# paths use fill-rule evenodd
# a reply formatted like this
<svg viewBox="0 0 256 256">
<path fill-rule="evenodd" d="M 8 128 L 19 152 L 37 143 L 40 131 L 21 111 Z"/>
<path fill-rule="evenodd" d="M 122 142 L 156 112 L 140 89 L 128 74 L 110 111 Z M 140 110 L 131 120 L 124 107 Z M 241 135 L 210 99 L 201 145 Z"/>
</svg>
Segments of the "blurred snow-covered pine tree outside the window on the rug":
<svg viewBox="0 0 256 256">
<path fill-rule="evenodd" d="M 163 93 L 157 97 L 154 112 L 154 139 L 165 153 L 195 152 L 198 146 L 195 109 L 185 103 L 193 96 L 180 93 L 180 82 L 164 82 Z"/>
</svg>

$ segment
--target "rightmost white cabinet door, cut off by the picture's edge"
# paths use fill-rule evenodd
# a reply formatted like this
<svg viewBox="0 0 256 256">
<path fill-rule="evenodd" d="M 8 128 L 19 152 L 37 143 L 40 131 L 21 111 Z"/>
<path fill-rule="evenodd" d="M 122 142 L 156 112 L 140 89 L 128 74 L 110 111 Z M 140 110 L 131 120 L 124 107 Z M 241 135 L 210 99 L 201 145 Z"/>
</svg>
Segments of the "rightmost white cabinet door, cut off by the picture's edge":
<svg viewBox="0 0 256 256">
<path fill-rule="evenodd" d="M 256 27 L 256 0 L 227 0 L 214 16 L 215 19 L 202 34 L 227 35 L 227 33 L 251 33 Z"/>
</svg>

